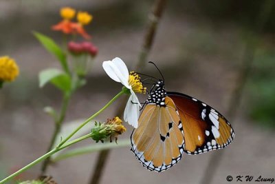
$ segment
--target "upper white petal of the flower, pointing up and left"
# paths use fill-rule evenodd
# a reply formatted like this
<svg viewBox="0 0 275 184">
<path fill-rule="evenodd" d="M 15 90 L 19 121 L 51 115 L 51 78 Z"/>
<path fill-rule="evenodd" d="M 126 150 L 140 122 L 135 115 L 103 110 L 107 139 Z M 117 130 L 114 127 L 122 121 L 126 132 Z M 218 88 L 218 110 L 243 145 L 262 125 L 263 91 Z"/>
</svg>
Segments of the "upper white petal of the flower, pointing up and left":
<svg viewBox="0 0 275 184">
<path fill-rule="evenodd" d="M 115 60 L 115 59 L 113 59 Z M 123 61 L 122 61 L 123 63 Z M 104 61 L 102 63 L 102 67 L 105 70 L 105 72 L 108 74 L 108 76 L 113 79 L 113 81 L 116 82 L 120 82 L 122 83 L 126 88 L 131 88 L 131 86 L 128 84 L 128 80 L 129 80 L 129 73 L 126 74 L 126 72 L 128 72 L 128 69 L 124 67 L 122 67 L 122 63 L 118 60 L 115 60 L 115 62 L 113 61 Z M 125 64 L 124 64 L 125 65 Z M 125 65 L 126 67 L 126 65 Z M 124 68 L 122 70 L 120 70 L 120 68 Z"/>
</svg>

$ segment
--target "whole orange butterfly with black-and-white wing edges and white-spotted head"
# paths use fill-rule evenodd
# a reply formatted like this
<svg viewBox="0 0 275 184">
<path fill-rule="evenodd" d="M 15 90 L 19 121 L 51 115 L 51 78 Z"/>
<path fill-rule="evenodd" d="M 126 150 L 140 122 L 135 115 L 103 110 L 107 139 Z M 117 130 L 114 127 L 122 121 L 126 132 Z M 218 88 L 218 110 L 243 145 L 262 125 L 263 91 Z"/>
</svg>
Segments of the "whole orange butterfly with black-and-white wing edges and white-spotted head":
<svg viewBox="0 0 275 184">
<path fill-rule="evenodd" d="M 162 75 L 148 92 L 131 134 L 131 151 L 148 170 L 162 172 L 178 163 L 184 152 L 219 150 L 233 139 L 234 130 L 223 115 L 192 96 L 166 92 Z"/>
</svg>

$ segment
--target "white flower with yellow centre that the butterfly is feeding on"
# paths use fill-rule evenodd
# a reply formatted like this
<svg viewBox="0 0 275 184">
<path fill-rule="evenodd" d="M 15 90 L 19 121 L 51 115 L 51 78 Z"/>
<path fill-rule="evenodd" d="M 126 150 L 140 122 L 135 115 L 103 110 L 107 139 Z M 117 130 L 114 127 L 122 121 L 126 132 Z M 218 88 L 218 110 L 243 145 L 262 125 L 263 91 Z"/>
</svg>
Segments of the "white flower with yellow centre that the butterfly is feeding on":
<svg viewBox="0 0 275 184">
<path fill-rule="evenodd" d="M 137 128 L 141 105 L 135 92 L 145 93 L 146 90 L 140 82 L 140 77 L 134 72 L 129 73 L 125 63 L 118 57 L 112 61 L 104 61 L 102 67 L 113 81 L 122 83 L 122 85 L 130 90 L 131 95 L 124 110 L 124 121 Z"/>
</svg>

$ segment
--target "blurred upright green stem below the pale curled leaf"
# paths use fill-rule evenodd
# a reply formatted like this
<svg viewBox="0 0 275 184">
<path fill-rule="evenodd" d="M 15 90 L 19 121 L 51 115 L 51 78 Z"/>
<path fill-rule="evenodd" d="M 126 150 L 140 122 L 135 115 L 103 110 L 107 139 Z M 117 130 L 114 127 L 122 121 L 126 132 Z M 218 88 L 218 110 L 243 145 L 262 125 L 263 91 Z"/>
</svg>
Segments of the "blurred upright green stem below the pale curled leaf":
<svg viewBox="0 0 275 184">
<path fill-rule="evenodd" d="M 55 122 L 54 134 L 52 134 L 52 139 L 50 141 L 49 147 L 47 148 L 47 152 L 50 152 L 50 150 L 52 150 L 52 147 L 54 146 L 54 143 L 56 142 L 56 136 L 61 131 L 61 125 L 63 124 L 63 121 L 65 119 L 65 115 L 67 112 L 67 107 L 68 107 L 70 97 L 71 97 L 70 94 L 65 94 L 63 96 L 61 112 L 60 112 L 59 118 Z M 43 161 L 43 163 L 42 163 L 41 175 L 43 175 L 46 172 L 47 167 L 49 165 L 50 165 L 50 156 L 47 159 L 45 159 L 45 161 Z"/>
</svg>

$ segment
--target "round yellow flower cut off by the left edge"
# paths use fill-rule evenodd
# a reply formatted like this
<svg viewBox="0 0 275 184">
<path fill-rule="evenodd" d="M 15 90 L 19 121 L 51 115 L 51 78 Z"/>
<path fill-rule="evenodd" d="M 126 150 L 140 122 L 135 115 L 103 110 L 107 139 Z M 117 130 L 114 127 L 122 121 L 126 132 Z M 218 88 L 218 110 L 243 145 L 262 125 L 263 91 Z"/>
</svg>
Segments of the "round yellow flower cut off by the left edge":
<svg viewBox="0 0 275 184">
<path fill-rule="evenodd" d="M 19 74 L 19 68 L 14 59 L 10 57 L 0 57 L 0 82 L 14 81 Z"/>
</svg>

